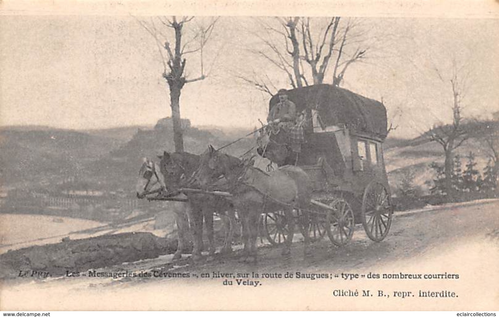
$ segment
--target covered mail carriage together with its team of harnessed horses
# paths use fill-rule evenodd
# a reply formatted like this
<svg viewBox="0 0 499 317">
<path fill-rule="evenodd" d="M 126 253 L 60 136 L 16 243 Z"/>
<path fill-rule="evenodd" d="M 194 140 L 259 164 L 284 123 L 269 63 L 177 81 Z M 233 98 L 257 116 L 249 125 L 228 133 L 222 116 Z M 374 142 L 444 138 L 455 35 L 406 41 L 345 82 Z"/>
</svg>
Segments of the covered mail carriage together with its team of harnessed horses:
<svg viewBox="0 0 499 317">
<path fill-rule="evenodd" d="M 165 153 L 158 167 L 150 160 L 144 162 L 138 197 L 159 193 L 152 199 L 189 202 L 189 218 L 195 224 L 193 255 L 201 256 L 202 219 L 212 218 L 214 212 L 228 217 L 231 229 L 224 249 L 230 251 L 230 223 L 237 211 L 243 222 L 245 253 L 253 261 L 259 219 L 267 239 L 284 245 L 283 254 L 291 252 L 295 222 L 305 248 L 326 233 L 332 243 L 343 246 L 360 223 L 374 241 L 388 234 L 393 210 L 383 162 L 387 135 L 383 104 L 329 85 L 287 94 L 302 114 L 301 142 L 296 147 L 289 131 L 273 124 L 259 129 L 257 152 L 279 166 L 272 171 L 254 167 L 251 158 L 236 158 L 212 146 L 201 156 Z M 273 97 L 270 109 L 276 103 Z"/>
</svg>

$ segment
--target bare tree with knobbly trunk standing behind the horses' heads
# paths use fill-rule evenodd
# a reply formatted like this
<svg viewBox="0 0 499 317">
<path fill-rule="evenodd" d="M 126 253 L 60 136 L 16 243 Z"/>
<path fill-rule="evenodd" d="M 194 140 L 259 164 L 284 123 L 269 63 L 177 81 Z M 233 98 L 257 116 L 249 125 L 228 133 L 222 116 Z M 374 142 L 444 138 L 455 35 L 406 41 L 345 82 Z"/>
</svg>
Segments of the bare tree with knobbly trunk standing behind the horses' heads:
<svg viewBox="0 0 499 317">
<path fill-rule="evenodd" d="M 183 131 L 180 120 L 180 94 L 187 83 L 203 80 L 207 77 L 203 65 L 203 49 L 210 39 L 218 18 L 213 19 L 207 26 L 198 25 L 197 29 L 190 32 L 190 37 L 185 38 L 184 27 L 191 22 L 194 16 L 157 17 L 150 21 L 138 20 L 144 29 L 151 34 L 158 46 L 163 62 L 163 78 L 168 83 L 170 90 L 170 107 L 172 109 L 173 133 L 175 152 L 184 151 Z M 173 34 L 171 34 L 173 31 Z M 170 39 L 173 37 L 173 47 Z M 201 59 L 200 76 L 187 78 L 186 55 L 198 53 Z"/>
</svg>

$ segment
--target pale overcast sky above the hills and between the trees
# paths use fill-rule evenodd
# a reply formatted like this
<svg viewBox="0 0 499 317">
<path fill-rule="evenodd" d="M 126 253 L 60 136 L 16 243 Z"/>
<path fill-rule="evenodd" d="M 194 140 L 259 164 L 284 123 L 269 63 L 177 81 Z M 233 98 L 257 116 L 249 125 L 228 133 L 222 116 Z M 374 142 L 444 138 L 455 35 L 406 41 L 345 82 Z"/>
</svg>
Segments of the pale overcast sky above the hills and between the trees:
<svg viewBox="0 0 499 317">
<path fill-rule="evenodd" d="M 342 86 L 383 98 L 390 118 L 402 113 L 394 136 L 414 137 L 451 119 L 453 60 L 469 73 L 464 114 L 499 111 L 498 19 L 366 18 L 361 24 L 376 43 Z M 182 117 L 194 125 L 248 128 L 266 118 L 269 96 L 234 76 L 262 71 L 279 88 L 287 84 L 249 52 L 259 45 L 251 35 L 257 30 L 250 17 L 219 20 L 204 56 L 209 76 L 182 90 Z M 107 128 L 152 125 L 170 115 L 157 46 L 132 16 L 3 15 L 0 43 L 3 126 Z M 191 77 L 200 75 L 199 64 L 188 56 Z"/>
</svg>

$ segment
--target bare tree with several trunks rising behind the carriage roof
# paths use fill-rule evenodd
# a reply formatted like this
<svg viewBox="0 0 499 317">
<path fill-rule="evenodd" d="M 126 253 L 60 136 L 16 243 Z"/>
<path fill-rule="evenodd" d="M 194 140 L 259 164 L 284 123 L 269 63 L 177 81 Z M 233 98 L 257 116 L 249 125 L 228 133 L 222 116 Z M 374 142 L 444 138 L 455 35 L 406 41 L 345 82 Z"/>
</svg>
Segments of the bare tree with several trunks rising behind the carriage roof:
<svg viewBox="0 0 499 317">
<path fill-rule="evenodd" d="M 253 35 L 262 47 L 250 51 L 281 70 L 293 88 L 322 84 L 327 71 L 332 73 L 330 83 L 339 86 L 348 67 L 363 60 L 370 49 L 363 40 L 364 33 L 349 18 L 291 16 L 258 22 L 261 30 Z M 238 77 L 257 89 L 270 86 L 262 78 Z"/>
</svg>

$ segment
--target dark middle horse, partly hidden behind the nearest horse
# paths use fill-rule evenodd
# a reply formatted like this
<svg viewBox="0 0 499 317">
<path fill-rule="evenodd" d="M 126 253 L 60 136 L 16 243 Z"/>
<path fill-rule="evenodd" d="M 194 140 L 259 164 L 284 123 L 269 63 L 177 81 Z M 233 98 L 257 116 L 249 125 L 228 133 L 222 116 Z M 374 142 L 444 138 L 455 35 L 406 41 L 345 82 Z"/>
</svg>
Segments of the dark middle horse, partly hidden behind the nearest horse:
<svg viewBox="0 0 499 317">
<path fill-rule="evenodd" d="M 193 187 L 191 176 L 199 168 L 200 156 L 183 153 L 164 152 L 159 165 L 161 173 L 165 176 L 165 185 L 169 192 L 175 192 L 182 187 Z M 223 253 L 232 252 L 234 236 L 235 212 L 232 203 L 224 197 L 203 193 L 185 192 L 191 207 L 191 223 L 194 228 L 193 259 L 201 257 L 203 250 L 203 222 L 206 225 L 210 254 L 215 253 L 213 234 L 213 214 L 217 213 L 224 219 L 226 237 Z"/>
</svg>

